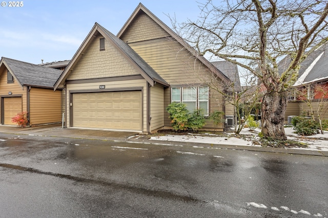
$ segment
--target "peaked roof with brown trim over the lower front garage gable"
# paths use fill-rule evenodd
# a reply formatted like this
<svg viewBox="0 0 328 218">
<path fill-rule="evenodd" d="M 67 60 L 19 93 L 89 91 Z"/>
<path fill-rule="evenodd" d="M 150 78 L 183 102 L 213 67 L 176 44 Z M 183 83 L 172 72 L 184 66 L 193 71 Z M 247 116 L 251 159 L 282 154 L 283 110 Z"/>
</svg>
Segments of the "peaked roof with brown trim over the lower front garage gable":
<svg viewBox="0 0 328 218">
<path fill-rule="evenodd" d="M 80 45 L 79 49 L 73 56 L 72 60 L 63 71 L 59 79 L 57 80 L 54 89 L 56 89 L 60 84 L 64 84 L 65 80 L 68 78 L 70 72 L 73 70 L 74 66 L 77 64 L 78 60 L 84 55 L 84 52 L 88 49 L 93 38 L 100 33 L 105 37 L 116 49 L 124 55 L 127 60 L 140 71 L 140 75 L 144 77 L 151 86 L 154 86 L 155 83 L 159 83 L 163 86 L 169 87 L 169 84 L 163 80 L 157 72 L 155 72 L 136 52 L 134 52 L 131 47 L 113 35 L 111 32 L 106 30 L 104 27 L 100 26 L 98 23 L 95 23 L 92 30 Z"/>
</svg>

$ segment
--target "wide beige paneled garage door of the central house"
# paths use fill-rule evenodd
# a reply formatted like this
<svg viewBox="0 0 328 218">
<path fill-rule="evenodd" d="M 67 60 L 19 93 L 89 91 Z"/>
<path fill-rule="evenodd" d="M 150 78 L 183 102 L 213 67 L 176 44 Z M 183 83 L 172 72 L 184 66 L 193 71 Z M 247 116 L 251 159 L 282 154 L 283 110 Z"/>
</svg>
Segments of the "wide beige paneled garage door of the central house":
<svg viewBox="0 0 328 218">
<path fill-rule="evenodd" d="M 72 127 L 142 131 L 141 91 L 72 94 Z"/>
</svg>

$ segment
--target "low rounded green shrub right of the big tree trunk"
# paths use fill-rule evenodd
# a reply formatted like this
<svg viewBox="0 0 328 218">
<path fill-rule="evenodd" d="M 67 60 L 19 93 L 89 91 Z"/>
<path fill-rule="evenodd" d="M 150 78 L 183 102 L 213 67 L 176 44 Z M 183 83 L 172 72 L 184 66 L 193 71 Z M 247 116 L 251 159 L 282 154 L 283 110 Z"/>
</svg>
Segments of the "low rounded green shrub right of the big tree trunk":
<svg viewBox="0 0 328 218">
<path fill-rule="evenodd" d="M 292 118 L 293 129 L 299 135 L 313 135 L 318 133 L 318 122 L 305 116 L 294 116 Z"/>
</svg>

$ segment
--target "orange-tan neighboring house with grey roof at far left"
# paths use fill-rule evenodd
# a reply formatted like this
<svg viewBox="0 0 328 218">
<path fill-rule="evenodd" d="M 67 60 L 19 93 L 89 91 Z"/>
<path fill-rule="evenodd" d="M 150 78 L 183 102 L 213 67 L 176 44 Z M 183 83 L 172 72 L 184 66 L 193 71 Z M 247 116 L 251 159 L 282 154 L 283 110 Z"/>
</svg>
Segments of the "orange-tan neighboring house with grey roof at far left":
<svg viewBox="0 0 328 218">
<path fill-rule="evenodd" d="M 30 125 L 61 122 L 61 90 L 53 89 L 61 71 L 2 57 L 0 60 L 1 124 L 26 111 Z"/>
</svg>

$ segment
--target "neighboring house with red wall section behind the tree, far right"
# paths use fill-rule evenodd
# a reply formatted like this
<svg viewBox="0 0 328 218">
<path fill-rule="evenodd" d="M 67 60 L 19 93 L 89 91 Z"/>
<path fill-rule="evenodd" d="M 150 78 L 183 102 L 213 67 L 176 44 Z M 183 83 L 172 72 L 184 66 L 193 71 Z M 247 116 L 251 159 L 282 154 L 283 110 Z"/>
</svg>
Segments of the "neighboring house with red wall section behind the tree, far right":
<svg viewBox="0 0 328 218">
<path fill-rule="evenodd" d="M 288 92 L 288 105 L 286 109 L 285 122 L 288 122 L 288 116 L 290 115 L 300 115 L 305 113 L 305 115 L 311 115 L 310 108 L 306 105 L 304 100 L 308 98 L 312 101 L 314 112 L 316 116 L 316 111 L 318 108 L 318 102 L 321 99 L 322 92 L 316 90 L 316 85 L 320 84 L 328 89 L 328 51 L 327 45 L 319 47 L 316 51 L 310 54 L 301 63 L 299 69 L 299 75 L 297 81 L 293 85 L 292 89 Z M 288 67 L 291 59 L 289 56 L 285 57 L 281 62 L 279 62 L 279 71 L 283 71 Z M 300 94 L 300 92 L 302 94 Z M 325 100 L 328 101 L 328 95 L 323 96 Z M 328 118 L 328 108 L 322 110 L 322 118 Z"/>
</svg>

